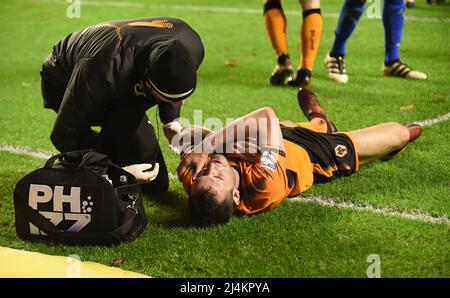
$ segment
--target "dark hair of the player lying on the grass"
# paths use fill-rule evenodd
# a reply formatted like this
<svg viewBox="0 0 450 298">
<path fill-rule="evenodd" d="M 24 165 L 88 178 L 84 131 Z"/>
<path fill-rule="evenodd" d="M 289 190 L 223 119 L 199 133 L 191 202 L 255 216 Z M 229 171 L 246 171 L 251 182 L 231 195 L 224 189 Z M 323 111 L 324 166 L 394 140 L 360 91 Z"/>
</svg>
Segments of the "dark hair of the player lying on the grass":
<svg viewBox="0 0 450 298">
<path fill-rule="evenodd" d="M 222 202 L 217 201 L 219 193 L 212 187 L 204 187 L 189 196 L 189 208 L 193 224 L 209 227 L 226 223 L 233 215 L 235 202 L 233 189 L 228 191 Z"/>
</svg>

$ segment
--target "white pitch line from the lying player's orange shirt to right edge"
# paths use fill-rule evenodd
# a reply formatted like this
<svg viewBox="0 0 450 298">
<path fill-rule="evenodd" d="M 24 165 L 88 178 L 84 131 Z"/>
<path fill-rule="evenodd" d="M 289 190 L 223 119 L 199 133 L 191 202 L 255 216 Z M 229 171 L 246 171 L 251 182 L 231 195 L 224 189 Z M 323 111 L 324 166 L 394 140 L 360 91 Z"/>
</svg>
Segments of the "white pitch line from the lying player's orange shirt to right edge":
<svg viewBox="0 0 450 298">
<path fill-rule="evenodd" d="M 335 207 L 341 209 L 351 209 L 356 211 L 371 212 L 389 217 L 401 217 L 415 221 L 423 221 L 427 223 L 446 223 L 450 224 L 450 218 L 445 215 L 434 216 L 425 212 L 415 211 L 397 211 L 391 208 L 375 207 L 368 203 L 353 203 L 343 201 L 338 198 L 322 198 L 322 197 L 295 197 L 287 199 L 288 202 L 311 203 L 325 207 Z"/>
</svg>

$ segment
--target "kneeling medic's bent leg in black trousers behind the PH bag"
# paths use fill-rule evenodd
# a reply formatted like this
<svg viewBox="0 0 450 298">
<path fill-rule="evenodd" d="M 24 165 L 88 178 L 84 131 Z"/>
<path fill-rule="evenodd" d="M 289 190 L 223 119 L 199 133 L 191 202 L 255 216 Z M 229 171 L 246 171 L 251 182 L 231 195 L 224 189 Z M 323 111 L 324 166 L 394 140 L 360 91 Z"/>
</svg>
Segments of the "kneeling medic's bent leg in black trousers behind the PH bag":
<svg viewBox="0 0 450 298">
<path fill-rule="evenodd" d="M 169 187 L 167 167 L 153 126 L 145 112 L 129 106 L 111 108 L 102 123 L 99 152 L 107 154 L 119 166 L 159 163 L 159 173 L 145 192 L 165 192 Z"/>
</svg>

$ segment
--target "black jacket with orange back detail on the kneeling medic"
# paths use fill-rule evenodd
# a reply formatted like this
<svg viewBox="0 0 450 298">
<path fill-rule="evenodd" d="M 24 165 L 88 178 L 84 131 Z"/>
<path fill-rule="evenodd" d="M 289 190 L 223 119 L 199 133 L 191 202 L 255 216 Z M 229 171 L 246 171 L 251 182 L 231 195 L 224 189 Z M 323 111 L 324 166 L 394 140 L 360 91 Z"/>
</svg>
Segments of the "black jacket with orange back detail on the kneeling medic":
<svg viewBox="0 0 450 298">
<path fill-rule="evenodd" d="M 50 77 L 66 77 L 68 82 L 51 134 L 55 147 L 60 151 L 79 149 L 83 131 L 101 126 L 110 109 L 132 106 L 136 117 L 156 104 L 170 109 L 173 104 L 158 103 L 144 94 L 144 72 L 152 49 L 172 38 L 188 49 L 198 69 L 204 57 L 202 41 L 188 24 L 174 18 L 102 23 L 58 42 L 51 63 L 43 66 Z"/>
</svg>

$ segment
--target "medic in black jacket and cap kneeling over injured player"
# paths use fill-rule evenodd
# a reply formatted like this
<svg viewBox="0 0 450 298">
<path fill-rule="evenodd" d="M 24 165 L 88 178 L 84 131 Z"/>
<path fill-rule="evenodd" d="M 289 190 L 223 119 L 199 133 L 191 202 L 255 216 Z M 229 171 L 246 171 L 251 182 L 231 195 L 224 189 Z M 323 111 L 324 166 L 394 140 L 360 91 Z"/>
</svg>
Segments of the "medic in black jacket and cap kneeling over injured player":
<svg viewBox="0 0 450 298">
<path fill-rule="evenodd" d="M 194 93 L 203 57 L 200 36 L 174 18 L 112 21 L 70 33 L 41 70 L 44 107 L 58 113 L 50 136 L 56 149 L 94 148 L 127 166 L 144 192 L 167 191 L 167 168 L 146 111 L 158 107 L 170 141 L 181 130 L 181 103 Z"/>
</svg>

